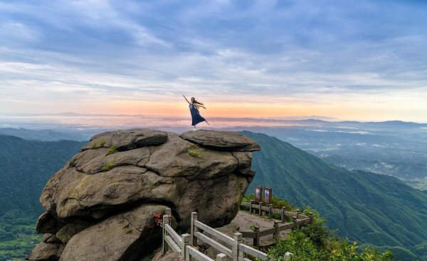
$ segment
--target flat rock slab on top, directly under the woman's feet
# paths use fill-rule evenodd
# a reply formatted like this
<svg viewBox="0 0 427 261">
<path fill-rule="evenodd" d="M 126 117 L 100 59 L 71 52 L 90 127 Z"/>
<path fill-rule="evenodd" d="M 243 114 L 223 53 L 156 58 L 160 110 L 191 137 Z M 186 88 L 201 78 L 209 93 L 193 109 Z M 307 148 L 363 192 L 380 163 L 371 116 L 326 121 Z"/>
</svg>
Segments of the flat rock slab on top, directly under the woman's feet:
<svg viewBox="0 0 427 261">
<path fill-rule="evenodd" d="M 189 130 L 182 133 L 181 138 L 189 142 L 210 148 L 226 151 L 256 151 L 260 150 L 258 143 L 234 131 L 218 130 Z"/>
</svg>

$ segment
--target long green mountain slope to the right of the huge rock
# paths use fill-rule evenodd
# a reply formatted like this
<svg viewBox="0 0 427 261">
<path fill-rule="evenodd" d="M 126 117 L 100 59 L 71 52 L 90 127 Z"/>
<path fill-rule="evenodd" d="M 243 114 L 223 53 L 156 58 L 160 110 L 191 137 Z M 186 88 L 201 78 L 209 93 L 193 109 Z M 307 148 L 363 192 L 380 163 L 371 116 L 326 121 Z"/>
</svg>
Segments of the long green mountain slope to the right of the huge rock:
<svg viewBox="0 0 427 261">
<path fill-rule="evenodd" d="M 390 248 L 401 260 L 427 260 L 427 194 L 394 177 L 349 171 L 261 133 L 242 132 L 256 140 L 254 186 L 296 206 L 312 206 L 338 234 Z"/>
</svg>

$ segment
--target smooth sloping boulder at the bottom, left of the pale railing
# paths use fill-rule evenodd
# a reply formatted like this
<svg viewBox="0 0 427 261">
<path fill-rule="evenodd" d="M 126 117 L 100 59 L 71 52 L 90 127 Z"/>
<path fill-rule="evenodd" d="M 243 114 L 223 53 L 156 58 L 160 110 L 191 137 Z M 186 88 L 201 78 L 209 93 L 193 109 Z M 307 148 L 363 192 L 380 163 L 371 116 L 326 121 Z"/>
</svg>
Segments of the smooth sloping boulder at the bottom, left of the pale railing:
<svg viewBox="0 0 427 261">
<path fill-rule="evenodd" d="M 73 236 L 60 260 L 136 260 L 161 240 L 162 228 L 154 223 L 153 213 L 165 209 L 147 204 L 100 221 Z"/>
</svg>

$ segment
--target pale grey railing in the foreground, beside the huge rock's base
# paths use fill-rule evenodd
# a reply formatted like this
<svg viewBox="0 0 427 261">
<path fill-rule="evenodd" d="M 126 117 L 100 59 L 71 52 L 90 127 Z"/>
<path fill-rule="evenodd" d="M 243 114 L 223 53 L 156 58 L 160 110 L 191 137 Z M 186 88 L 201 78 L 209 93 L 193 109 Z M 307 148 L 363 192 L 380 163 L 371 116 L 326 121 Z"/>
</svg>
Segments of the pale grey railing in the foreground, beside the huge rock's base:
<svg viewBox="0 0 427 261">
<path fill-rule="evenodd" d="M 170 214 L 168 212 L 170 213 L 170 209 L 167 209 L 166 214 L 163 216 L 163 253 L 170 249 L 173 252 L 179 252 L 186 261 L 191 260 L 191 258 L 199 261 L 214 261 L 196 249 L 197 240 L 202 240 L 210 245 L 211 248 L 215 248 L 220 252 L 220 254 L 216 255 L 216 261 L 225 261 L 227 257 L 231 257 L 233 261 L 251 261 L 246 258 L 246 255 L 257 257 L 260 260 L 268 260 L 265 252 L 244 245 L 241 233 L 234 233 L 233 238 L 231 238 L 224 233 L 216 231 L 214 228 L 198 221 L 197 212 L 191 212 L 191 234 L 179 236 L 170 226 Z"/>
</svg>

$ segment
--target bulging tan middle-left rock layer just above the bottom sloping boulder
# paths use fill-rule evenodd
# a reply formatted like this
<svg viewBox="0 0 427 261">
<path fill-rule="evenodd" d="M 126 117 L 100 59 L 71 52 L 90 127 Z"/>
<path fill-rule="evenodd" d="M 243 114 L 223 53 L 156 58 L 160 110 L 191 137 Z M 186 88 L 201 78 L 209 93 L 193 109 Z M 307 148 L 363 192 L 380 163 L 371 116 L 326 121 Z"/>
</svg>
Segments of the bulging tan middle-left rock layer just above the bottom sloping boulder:
<svg viewBox="0 0 427 261">
<path fill-rule="evenodd" d="M 188 183 L 183 177 L 162 177 L 132 165 L 97 174 L 70 169 L 60 178 L 60 193 L 46 198 L 55 203 L 42 201 L 41 204 L 55 204 L 56 214 L 64 220 L 76 216 L 100 219 L 117 211 L 117 207 L 126 208 L 142 202 L 179 201 Z"/>
</svg>

